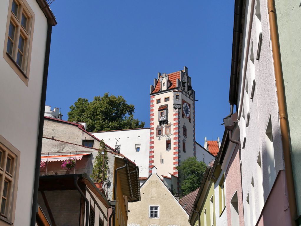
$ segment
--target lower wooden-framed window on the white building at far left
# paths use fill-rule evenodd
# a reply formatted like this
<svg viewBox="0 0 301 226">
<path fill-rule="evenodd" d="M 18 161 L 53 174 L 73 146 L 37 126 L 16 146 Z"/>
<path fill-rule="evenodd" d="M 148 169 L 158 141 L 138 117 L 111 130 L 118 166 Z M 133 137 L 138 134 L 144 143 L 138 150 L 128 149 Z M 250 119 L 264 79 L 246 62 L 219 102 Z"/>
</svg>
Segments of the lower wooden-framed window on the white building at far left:
<svg viewBox="0 0 301 226">
<path fill-rule="evenodd" d="M 16 155 L 0 143 L 0 217 L 9 221 L 16 159 Z"/>
</svg>

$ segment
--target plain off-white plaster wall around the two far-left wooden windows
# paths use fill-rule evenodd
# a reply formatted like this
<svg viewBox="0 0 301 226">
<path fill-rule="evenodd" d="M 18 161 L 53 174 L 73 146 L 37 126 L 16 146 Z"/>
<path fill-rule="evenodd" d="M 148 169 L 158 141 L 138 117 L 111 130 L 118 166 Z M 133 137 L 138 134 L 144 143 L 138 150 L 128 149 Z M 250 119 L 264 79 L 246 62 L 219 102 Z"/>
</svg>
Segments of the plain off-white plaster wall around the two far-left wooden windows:
<svg viewBox="0 0 301 226">
<path fill-rule="evenodd" d="M 21 152 L 14 225 L 29 225 L 31 217 L 47 34 L 47 20 L 38 3 L 27 2 L 35 14 L 28 86 L 3 58 L 9 0 L 0 2 L 0 134 Z"/>
</svg>

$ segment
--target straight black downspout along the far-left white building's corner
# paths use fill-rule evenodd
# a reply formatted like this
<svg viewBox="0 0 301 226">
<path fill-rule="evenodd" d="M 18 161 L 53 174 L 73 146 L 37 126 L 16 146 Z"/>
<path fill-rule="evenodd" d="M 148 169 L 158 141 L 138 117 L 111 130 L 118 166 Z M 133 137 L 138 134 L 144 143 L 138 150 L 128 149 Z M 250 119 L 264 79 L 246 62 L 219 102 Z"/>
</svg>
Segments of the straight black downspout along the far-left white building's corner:
<svg viewBox="0 0 301 226">
<path fill-rule="evenodd" d="M 38 192 L 39 192 L 40 163 L 41 163 L 41 154 L 42 154 L 42 140 L 43 140 L 43 128 L 44 128 L 44 113 L 45 113 L 46 89 L 47 89 L 47 79 L 48 79 L 51 31 L 52 31 L 52 25 L 48 24 L 47 25 L 47 38 L 46 38 L 43 81 L 42 81 L 41 104 L 40 104 L 38 144 L 37 144 L 37 150 L 36 150 L 36 166 L 35 166 L 35 176 L 34 176 L 34 184 L 33 184 L 33 205 L 32 205 L 31 220 L 30 220 L 31 226 L 36 225 L 36 214 L 37 214 L 38 208 L 39 208 Z"/>
</svg>

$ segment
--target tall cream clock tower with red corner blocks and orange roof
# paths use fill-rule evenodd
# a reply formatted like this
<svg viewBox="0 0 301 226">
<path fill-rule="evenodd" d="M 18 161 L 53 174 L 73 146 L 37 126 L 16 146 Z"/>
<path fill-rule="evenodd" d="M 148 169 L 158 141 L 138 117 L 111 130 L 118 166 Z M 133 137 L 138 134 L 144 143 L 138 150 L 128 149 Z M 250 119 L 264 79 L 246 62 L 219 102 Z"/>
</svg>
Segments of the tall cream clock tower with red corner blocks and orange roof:
<svg viewBox="0 0 301 226">
<path fill-rule="evenodd" d="M 180 192 L 181 175 L 176 166 L 195 156 L 195 93 L 187 67 L 174 73 L 158 73 L 151 85 L 149 173 L 174 175 Z M 174 177 L 173 177 L 174 178 Z"/>
</svg>

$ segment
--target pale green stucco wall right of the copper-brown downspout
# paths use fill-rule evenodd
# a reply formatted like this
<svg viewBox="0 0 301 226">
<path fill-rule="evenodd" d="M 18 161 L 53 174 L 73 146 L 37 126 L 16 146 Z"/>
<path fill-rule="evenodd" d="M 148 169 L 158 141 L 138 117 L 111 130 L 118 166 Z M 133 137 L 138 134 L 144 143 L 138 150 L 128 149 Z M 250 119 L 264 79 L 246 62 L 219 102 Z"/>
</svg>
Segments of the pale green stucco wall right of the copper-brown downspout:
<svg viewBox="0 0 301 226">
<path fill-rule="evenodd" d="M 301 215 L 301 7 L 300 1 L 275 0 L 297 211 Z"/>
</svg>

